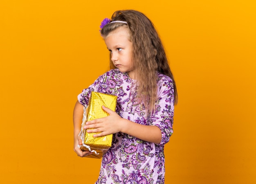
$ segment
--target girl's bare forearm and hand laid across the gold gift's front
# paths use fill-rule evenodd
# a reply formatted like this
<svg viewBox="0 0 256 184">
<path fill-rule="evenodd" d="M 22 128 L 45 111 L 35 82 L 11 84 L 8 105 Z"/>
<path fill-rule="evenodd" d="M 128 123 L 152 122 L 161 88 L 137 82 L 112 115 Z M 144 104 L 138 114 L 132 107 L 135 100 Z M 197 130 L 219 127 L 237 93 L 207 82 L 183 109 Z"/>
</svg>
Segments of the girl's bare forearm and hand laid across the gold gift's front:
<svg viewBox="0 0 256 184">
<path fill-rule="evenodd" d="M 159 144 L 161 142 L 162 133 L 157 126 L 140 125 L 130 120 L 121 118 L 116 112 L 107 107 L 102 106 L 103 110 L 108 112 L 109 116 L 86 122 L 85 129 L 88 133 L 101 132 L 95 134 L 94 137 L 105 136 L 123 132 L 141 140 Z"/>
</svg>

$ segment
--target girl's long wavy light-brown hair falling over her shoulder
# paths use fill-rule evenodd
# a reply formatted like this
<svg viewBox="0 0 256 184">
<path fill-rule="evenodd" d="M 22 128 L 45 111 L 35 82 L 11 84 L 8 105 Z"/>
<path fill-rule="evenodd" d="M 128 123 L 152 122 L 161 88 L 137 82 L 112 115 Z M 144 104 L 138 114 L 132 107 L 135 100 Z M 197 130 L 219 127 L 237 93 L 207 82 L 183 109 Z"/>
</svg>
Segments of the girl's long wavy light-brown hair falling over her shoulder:
<svg viewBox="0 0 256 184">
<path fill-rule="evenodd" d="M 174 103 L 177 104 L 177 89 L 173 74 L 168 64 L 164 46 L 153 23 L 143 13 L 135 10 L 119 10 L 112 15 L 111 21 L 121 20 L 124 23 L 106 24 L 101 35 L 106 38 L 112 31 L 121 26 L 127 27 L 132 42 L 132 65 L 136 68 L 137 94 L 144 105 L 153 110 L 157 99 L 157 72 L 173 80 Z M 110 69 L 116 68 L 111 61 Z M 145 103 L 146 102 L 146 103 Z"/>
</svg>

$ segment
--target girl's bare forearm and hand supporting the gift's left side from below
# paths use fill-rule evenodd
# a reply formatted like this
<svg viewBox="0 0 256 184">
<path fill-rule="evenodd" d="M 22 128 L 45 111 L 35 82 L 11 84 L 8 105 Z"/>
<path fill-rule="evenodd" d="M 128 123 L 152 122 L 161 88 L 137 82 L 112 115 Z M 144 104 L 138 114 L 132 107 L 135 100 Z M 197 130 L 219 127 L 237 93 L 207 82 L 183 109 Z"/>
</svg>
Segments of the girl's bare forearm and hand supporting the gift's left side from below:
<svg viewBox="0 0 256 184">
<path fill-rule="evenodd" d="M 74 112 L 73 112 L 73 123 L 74 123 L 74 151 L 77 156 L 85 157 L 90 154 L 90 151 L 82 151 L 78 145 L 82 145 L 82 140 L 79 138 L 78 134 L 81 130 L 81 123 L 83 119 L 83 105 L 76 101 Z"/>
</svg>

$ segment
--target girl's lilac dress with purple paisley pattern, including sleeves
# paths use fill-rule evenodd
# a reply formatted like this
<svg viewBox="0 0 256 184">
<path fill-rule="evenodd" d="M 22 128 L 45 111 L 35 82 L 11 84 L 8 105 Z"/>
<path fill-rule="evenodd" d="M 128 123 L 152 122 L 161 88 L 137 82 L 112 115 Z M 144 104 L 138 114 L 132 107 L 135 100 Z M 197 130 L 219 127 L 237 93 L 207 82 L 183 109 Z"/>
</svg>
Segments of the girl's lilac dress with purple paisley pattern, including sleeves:
<svg viewBox="0 0 256 184">
<path fill-rule="evenodd" d="M 91 91 L 117 96 L 116 112 L 141 125 L 154 125 L 162 132 L 159 144 L 146 142 L 122 132 L 113 135 L 112 147 L 103 156 L 95 184 L 164 184 L 164 145 L 173 133 L 173 81 L 158 74 L 155 110 L 147 114 L 137 98 L 135 80 L 118 69 L 101 75 L 78 95 L 87 106 Z"/>
</svg>

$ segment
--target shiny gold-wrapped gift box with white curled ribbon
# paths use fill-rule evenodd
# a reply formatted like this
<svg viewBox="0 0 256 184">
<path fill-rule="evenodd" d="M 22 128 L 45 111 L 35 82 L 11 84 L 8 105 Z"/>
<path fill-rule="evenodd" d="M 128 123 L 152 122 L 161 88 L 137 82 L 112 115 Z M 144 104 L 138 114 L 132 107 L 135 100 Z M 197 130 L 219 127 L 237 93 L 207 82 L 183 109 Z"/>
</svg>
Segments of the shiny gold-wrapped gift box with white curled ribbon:
<svg viewBox="0 0 256 184">
<path fill-rule="evenodd" d="M 115 111 L 117 105 L 117 96 L 92 92 L 85 112 L 87 117 L 83 123 L 85 124 L 87 121 L 108 116 L 109 114 L 102 109 L 102 105 L 108 107 L 112 111 Z M 88 134 L 87 129 L 83 130 L 83 145 L 80 148 L 83 151 L 93 152 L 87 156 L 88 158 L 101 158 L 103 154 L 106 153 L 106 151 L 111 147 L 113 134 L 97 138 L 93 137 L 94 134 L 99 133 Z"/>
</svg>

